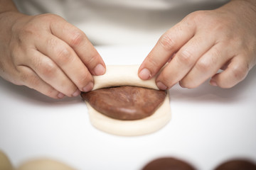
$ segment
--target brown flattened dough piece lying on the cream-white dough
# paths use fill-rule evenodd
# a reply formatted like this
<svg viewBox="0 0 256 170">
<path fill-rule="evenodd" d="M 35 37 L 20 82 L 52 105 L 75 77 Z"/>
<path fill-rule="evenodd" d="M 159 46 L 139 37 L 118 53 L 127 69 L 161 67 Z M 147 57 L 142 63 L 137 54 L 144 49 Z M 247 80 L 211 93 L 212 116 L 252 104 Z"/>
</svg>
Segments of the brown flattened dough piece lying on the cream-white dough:
<svg viewBox="0 0 256 170">
<path fill-rule="evenodd" d="M 139 120 L 152 115 L 164 102 L 166 91 L 137 86 L 117 86 L 81 94 L 96 111 L 119 120 Z"/>
</svg>

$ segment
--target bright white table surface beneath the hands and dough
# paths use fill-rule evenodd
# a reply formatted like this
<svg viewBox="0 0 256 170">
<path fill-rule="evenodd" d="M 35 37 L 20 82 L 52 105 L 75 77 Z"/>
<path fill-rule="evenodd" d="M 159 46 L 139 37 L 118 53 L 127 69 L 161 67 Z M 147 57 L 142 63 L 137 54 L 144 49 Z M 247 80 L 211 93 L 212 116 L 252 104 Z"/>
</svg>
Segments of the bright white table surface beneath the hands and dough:
<svg viewBox="0 0 256 170">
<path fill-rule="evenodd" d="M 151 47 L 97 47 L 106 64 L 140 64 Z M 172 118 L 151 135 L 119 137 L 90 124 L 80 96 L 55 100 L 0 78 L 0 149 L 15 166 L 48 157 L 75 169 L 141 169 L 178 157 L 213 169 L 234 157 L 256 161 L 256 68 L 232 89 L 170 90 Z"/>
</svg>

